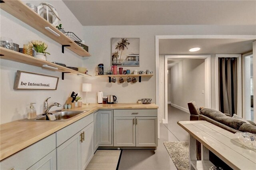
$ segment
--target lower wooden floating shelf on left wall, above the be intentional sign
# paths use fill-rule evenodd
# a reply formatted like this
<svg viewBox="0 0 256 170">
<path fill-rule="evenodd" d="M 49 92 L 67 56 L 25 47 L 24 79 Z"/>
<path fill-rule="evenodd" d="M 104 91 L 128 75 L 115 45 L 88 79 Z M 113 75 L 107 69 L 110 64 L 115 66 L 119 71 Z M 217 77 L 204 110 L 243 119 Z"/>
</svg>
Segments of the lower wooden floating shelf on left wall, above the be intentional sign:
<svg viewBox="0 0 256 170">
<path fill-rule="evenodd" d="M 62 79 L 64 79 L 64 77 L 63 77 L 64 74 L 63 73 L 72 73 L 72 74 L 81 75 L 81 76 L 91 76 L 91 75 L 88 75 L 88 74 L 80 73 L 79 71 L 76 71 L 76 70 L 73 70 L 73 69 L 69 69 L 67 67 L 63 67 L 63 66 L 58 65 L 58 64 L 51 63 L 49 61 L 44 61 L 42 59 L 37 59 L 35 57 L 29 56 L 29 55 L 26 55 L 26 54 L 23 54 L 23 53 L 19 53 L 17 51 L 6 49 L 4 47 L 0 47 L 0 54 L 1 54 L 1 56 L 0 56 L 1 59 L 8 59 L 8 60 L 17 61 L 17 62 L 20 62 L 20 63 L 34 65 L 34 66 L 37 66 L 37 67 L 51 69 L 51 70 L 54 70 L 54 71 L 60 71 L 60 72 L 62 72 Z"/>
</svg>

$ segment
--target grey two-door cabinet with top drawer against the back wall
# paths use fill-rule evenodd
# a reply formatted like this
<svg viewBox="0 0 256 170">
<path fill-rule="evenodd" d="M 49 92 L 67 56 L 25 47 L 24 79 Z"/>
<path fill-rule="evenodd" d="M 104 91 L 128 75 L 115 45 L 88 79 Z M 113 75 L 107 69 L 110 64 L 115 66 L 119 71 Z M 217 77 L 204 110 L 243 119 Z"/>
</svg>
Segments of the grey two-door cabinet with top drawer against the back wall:
<svg viewBox="0 0 256 170">
<path fill-rule="evenodd" d="M 114 110 L 114 146 L 157 145 L 157 109 Z"/>
</svg>

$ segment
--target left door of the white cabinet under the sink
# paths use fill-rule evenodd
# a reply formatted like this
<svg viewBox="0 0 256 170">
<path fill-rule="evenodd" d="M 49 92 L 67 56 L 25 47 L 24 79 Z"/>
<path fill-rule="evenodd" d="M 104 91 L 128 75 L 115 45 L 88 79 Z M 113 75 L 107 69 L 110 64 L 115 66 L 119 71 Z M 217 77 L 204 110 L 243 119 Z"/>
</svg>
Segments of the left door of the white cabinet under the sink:
<svg viewBox="0 0 256 170">
<path fill-rule="evenodd" d="M 57 148 L 57 167 L 59 170 L 81 169 L 80 134 L 78 132 Z"/>
</svg>

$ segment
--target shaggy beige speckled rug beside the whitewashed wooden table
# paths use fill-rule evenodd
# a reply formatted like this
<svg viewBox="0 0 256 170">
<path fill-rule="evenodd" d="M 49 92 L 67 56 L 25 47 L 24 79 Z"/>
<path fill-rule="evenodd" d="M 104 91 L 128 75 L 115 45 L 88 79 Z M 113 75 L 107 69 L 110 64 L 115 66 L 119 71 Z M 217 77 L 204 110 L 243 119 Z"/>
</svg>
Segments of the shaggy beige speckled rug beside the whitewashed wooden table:
<svg viewBox="0 0 256 170">
<path fill-rule="evenodd" d="M 178 170 L 189 169 L 188 142 L 164 142 L 164 146 Z"/>
</svg>

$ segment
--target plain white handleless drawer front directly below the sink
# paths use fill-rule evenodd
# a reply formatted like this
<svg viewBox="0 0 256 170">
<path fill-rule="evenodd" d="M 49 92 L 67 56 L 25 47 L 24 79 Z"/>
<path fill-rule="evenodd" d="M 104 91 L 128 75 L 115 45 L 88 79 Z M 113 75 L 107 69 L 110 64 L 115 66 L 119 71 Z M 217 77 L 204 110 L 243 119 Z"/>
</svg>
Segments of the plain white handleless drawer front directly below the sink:
<svg viewBox="0 0 256 170">
<path fill-rule="evenodd" d="M 94 120 L 93 114 L 90 114 L 79 121 L 68 125 L 67 127 L 62 128 L 61 130 L 56 132 L 56 145 L 57 147 L 64 143 L 66 140 L 74 136 L 77 132 L 82 130 L 82 128 L 86 127 Z"/>
</svg>

